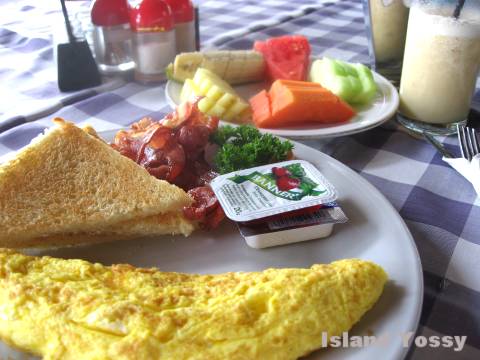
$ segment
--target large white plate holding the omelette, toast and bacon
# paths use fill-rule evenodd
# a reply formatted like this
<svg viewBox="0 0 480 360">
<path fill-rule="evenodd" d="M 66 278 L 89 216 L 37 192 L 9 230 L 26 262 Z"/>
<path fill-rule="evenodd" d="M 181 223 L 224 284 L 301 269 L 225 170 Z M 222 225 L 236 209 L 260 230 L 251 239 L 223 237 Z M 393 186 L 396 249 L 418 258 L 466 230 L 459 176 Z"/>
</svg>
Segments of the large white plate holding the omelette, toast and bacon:
<svg viewBox="0 0 480 360">
<path fill-rule="evenodd" d="M 113 133 L 103 133 L 102 137 L 111 140 Z M 349 335 L 382 337 L 386 339 L 383 345 L 322 349 L 306 359 L 404 358 L 408 348 L 403 346 L 401 335 L 415 332 L 423 299 L 422 267 L 407 226 L 385 197 L 347 166 L 299 143 L 295 143 L 294 153 L 297 158 L 314 164 L 336 187 L 339 202 L 350 219 L 345 224 L 336 225 L 328 238 L 255 250 L 246 245 L 233 223 L 224 221 L 215 231 L 198 231 L 188 238 L 166 236 L 30 253 L 81 258 L 103 264 L 155 266 L 164 271 L 187 273 L 310 267 L 314 263 L 328 263 L 342 258 L 372 260 L 385 269 L 390 280 L 377 304 Z M 0 342 L 0 359 L 38 358 Z"/>
</svg>

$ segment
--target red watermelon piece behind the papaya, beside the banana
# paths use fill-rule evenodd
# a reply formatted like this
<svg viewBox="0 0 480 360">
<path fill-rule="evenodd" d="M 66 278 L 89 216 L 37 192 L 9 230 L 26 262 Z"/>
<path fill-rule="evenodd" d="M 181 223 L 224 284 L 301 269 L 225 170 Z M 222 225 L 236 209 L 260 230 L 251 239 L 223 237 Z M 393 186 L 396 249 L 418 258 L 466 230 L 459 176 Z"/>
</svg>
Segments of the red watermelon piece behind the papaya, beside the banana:
<svg viewBox="0 0 480 360">
<path fill-rule="evenodd" d="M 305 36 L 280 36 L 256 41 L 253 49 L 263 54 L 267 76 L 271 81 L 307 79 L 310 44 Z"/>
</svg>

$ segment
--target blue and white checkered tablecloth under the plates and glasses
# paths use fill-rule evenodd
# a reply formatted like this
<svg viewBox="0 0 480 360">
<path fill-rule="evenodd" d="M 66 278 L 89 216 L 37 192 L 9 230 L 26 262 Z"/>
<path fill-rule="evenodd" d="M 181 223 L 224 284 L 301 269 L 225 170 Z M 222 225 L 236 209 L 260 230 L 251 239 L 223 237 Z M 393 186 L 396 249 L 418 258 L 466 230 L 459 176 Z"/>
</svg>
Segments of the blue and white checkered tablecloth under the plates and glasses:
<svg viewBox="0 0 480 360">
<path fill-rule="evenodd" d="M 296 33 L 311 40 L 313 54 L 369 60 L 359 0 L 209 0 L 199 4 L 204 47 L 248 49 L 256 39 Z M 129 125 L 146 115 L 160 118 L 170 110 L 164 85 L 107 83 L 103 89 L 59 93 L 51 38 L 51 24 L 59 15 L 56 7 L 56 1 L 47 0 L 0 1 L 0 130 L 2 124 L 7 128 L 40 118 L 1 133 L 0 153 L 26 145 L 50 126 L 52 116 L 89 123 L 101 131 Z M 458 153 L 454 138 L 444 142 Z M 418 335 L 468 336 L 462 352 L 414 347 L 409 357 L 479 359 L 480 199 L 471 185 L 429 144 L 395 126 L 304 143 L 356 170 L 406 221 L 421 256 L 425 282 Z"/>
</svg>

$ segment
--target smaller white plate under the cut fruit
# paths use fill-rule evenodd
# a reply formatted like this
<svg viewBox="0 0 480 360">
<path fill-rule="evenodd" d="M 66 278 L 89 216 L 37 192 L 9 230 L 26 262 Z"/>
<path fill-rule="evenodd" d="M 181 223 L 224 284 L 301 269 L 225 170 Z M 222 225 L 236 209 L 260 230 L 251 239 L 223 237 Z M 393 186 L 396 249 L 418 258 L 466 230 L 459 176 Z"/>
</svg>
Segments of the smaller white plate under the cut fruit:
<svg viewBox="0 0 480 360">
<path fill-rule="evenodd" d="M 281 129 L 261 129 L 274 135 L 291 139 L 319 139 L 355 134 L 374 128 L 392 118 L 398 108 L 399 97 L 397 89 L 383 76 L 373 72 L 373 78 L 378 91 L 375 99 L 366 106 L 356 107 L 357 115 L 350 121 L 342 124 L 314 124 Z M 248 100 L 262 89 L 267 89 L 265 83 L 251 83 L 235 86 L 238 94 Z M 173 80 L 167 82 L 165 96 L 172 109 L 180 103 L 182 84 Z M 231 124 L 222 122 L 224 124 Z"/>
</svg>

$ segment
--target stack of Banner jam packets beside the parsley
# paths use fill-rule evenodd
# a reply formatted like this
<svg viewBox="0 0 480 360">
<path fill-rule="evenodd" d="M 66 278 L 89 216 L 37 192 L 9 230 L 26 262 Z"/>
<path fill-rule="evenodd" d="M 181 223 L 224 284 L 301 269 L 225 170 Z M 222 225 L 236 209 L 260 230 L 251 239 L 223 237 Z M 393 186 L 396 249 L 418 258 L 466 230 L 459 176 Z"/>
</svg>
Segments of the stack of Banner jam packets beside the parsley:
<svg viewBox="0 0 480 360">
<path fill-rule="evenodd" d="M 253 248 L 326 237 L 334 224 L 348 220 L 334 187 L 304 160 L 236 171 L 210 185 Z"/>
</svg>

